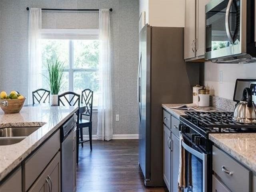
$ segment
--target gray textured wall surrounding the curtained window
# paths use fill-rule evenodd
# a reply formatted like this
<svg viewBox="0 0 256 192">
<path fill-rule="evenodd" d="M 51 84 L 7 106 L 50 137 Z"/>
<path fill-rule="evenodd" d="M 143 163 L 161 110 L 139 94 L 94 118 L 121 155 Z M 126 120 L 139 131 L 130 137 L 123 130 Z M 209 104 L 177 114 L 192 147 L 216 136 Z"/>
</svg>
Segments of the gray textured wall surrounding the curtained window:
<svg viewBox="0 0 256 192">
<path fill-rule="evenodd" d="M 138 134 L 138 0 L 0 0 L 0 90 L 28 92 L 28 16 L 26 7 L 113 8 L 112 96 L 114 134 Z M 97 12 L 42 12 L 43 28 L 98 28 Z M 120 121 L 115 115 L 120 114 Z M 97 113 L 93 114 L 96 134 Z"/>
</svg>

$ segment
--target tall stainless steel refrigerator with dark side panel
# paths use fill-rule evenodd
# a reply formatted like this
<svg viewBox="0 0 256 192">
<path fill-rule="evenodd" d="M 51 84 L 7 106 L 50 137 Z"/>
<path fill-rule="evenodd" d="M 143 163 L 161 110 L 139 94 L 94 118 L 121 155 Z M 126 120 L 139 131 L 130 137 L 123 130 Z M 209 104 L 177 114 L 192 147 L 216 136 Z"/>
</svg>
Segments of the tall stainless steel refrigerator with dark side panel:
<svg viewBox="0 0 256 192">
<path fill-rule="evenodd" d="M 200 68 L 184 62 L 184 28 L 144 26 L 139 51 L 139 165 L 146 186 L 163 186 L 161 104 L 192 102 Z"/>
</svg>

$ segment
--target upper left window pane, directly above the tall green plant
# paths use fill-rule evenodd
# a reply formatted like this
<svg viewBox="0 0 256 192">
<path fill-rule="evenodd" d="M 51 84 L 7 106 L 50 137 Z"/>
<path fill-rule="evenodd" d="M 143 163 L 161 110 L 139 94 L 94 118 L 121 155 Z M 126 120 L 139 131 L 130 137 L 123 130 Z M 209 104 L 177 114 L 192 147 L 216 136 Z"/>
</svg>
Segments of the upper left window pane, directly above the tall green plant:
<svg viewBox="0 0 256 192">
<path fill-rule="evenodd" d="M 47 60 L 55 62 L 56 58 L 64 62 L 64 67 L 68 68 L 68 47 L 69 40 L 42 39 L 42 68 L 47 70 Z"/>
</svg>

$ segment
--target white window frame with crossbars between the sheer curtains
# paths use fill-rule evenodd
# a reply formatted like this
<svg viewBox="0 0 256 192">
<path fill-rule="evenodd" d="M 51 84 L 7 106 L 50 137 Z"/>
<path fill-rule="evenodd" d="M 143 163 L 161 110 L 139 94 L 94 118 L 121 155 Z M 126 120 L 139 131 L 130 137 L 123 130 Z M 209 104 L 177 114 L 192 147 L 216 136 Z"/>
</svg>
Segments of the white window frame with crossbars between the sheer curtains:
<svg viewBox="0 0 256 192">
<path fill-rule="evenodd" d="M 42 29 L 41 39 L 68 40 L 68 89 L 74 91 L 74 72 L 98 72 L 99 68 L 75 68 L 74 67 L 74 40 L 98 40 L 98 29 Z M 98 106 L 93 106 L 96 112 Z"/>
</svg>

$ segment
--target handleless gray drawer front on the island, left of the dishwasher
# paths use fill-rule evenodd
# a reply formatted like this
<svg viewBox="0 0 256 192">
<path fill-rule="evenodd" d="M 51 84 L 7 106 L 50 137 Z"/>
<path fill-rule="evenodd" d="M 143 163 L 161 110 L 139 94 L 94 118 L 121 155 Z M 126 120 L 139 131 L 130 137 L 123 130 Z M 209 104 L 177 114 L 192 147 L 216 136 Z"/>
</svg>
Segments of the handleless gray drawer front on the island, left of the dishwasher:
<svg viewBox="0 0 256 192">
<path fill-rule="evenodd" d="M 60 149 L 60 130 L 51 136 L 40 148 L 24 162 L 25 191 L 32 185 L 54 155 Z"/>
</svg>

